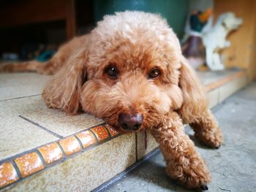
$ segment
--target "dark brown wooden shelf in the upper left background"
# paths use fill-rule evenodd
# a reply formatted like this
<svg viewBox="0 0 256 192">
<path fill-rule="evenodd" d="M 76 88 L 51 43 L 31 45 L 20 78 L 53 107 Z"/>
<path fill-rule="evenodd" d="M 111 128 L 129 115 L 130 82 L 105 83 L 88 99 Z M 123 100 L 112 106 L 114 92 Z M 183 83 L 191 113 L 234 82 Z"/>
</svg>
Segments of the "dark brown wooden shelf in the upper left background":
<svg viewBox="0 0 256 192">
<path fill-rule="evenodd" d="M 76 34 L 75 0 L 22 0 L 0 7 L 0 28 L 56 20 L 66 21 L 67 39 Z"/>
</svg>

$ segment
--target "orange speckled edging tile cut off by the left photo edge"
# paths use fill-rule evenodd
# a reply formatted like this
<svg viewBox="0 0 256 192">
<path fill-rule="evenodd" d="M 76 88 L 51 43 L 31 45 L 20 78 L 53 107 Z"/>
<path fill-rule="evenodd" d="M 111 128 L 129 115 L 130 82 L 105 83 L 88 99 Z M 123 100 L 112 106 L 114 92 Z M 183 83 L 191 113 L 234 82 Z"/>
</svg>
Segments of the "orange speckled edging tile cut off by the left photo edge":
<svg viewBox="0 0 256 192">
<path fill-rule="evenodd" d="M 18 180 L 14 166 L 7 162 L 0 165 L 0 188 Z"/>
</svg>

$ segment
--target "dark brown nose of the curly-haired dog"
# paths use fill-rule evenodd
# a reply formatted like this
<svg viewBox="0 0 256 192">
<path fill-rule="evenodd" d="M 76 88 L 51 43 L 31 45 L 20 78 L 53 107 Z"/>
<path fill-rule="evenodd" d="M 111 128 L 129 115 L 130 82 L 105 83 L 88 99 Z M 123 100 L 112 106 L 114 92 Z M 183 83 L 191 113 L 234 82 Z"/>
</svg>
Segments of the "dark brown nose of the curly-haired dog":
<svg viewBox="0 0 256 192">
<path fill-rule="evenodd" d="M 128 114 L 121 112 L 118 115 L 118 123 L 121 128 L 124 128 L 124 130 L 136 131 L 141 127 L 143 123 L 143 115 L 139 113 Z"/>
</svg>

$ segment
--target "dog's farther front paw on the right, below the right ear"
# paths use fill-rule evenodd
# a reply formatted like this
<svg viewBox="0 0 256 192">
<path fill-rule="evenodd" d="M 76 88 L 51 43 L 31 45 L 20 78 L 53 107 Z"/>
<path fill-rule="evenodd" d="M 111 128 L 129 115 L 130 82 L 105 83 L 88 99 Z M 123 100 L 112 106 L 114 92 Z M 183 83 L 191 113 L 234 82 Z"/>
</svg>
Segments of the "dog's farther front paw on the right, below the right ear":
<svg viewBox="0 0 256 192">
<path fill-rule="evenodd" d="M 222 131 L 219 128 L 197 131 L 195 137 L 208 147 L 218 149 L 222 145 Z"/>
</svg>

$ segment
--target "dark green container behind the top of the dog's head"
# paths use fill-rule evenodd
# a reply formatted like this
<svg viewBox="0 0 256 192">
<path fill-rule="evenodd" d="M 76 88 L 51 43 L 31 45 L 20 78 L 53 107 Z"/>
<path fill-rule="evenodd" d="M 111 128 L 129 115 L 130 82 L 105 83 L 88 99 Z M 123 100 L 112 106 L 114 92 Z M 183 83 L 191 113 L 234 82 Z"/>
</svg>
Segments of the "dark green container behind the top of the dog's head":
<svg viewBox="0 0 256 192">
<path fill-rule="evenodd" d="M 94 0 L 94 20 L 125 10 L 159 13 L 179 38 L 184 34 L 189 0 Z"/>
</svg>

